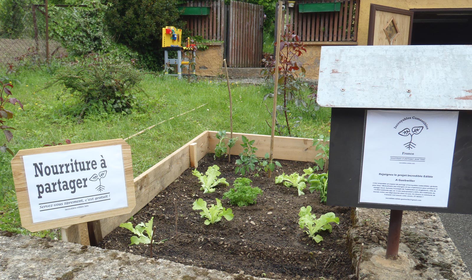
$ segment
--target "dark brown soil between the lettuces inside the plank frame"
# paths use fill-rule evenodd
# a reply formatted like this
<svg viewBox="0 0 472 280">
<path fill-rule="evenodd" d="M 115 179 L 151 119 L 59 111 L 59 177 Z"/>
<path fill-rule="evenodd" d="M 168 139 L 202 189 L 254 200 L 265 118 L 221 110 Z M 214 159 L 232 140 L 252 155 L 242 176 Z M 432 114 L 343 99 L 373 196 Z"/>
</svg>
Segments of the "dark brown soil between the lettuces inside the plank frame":
<svg viewBox="0 0 472 280">
<path fill-rule="evenodd" d="M 147 222 L 154 216 L 156 230 L 154 239 L 165 240 L 154 244 L 153 256 L 182 264 L 217 269 L 230 273 L 265 276 L 274 279 L 348 279 L 353 274 L 351 259 L 347 250 L 346 231 L 351 225 L 351 208 L 320 204 L 318 193 L 304 190 L 298 196 L 296 188 L 275 185 L 274 178 L 283 172 L 303 174 L 303 169 L 312 163 L 280 160 L 282 168 L 272 173 L 272 178 L 253 177 L 253 187 L 263 190 L 257 204 L 245 207 L 229 205 L 221 199 L 232 187 L 233 181 L 241 177 L 234 173 L 234 161 L 213 160 L 213 155 L 205 156 L 198 163 L 198 171 L 205 173 L 208 166 L 215 163 L 221 175 L 230 186 L 219 185 L 214 193 L 203 194 L 198 179 L 187 169 L 167 189 L 133 217 L 133 225 Z M 246 174 L 247 175 L 247 174 Z M 265 174 L 263 174 L 265 176 Z M 192 203 L 203 198 L 208 205 L 221 199 L 223 207 L 233 210 L 234 219 L 206 226 L 200 211 L 192 210 Z M 175 229 L 175 206 L 177 205 L 177 231 Z M 339 217 L 331 233 L 321 232 L 323 241 L 316 243 L 298 227 L 298 213 L 302 206 L 312 206 L 312 214 L 319 217 L 334 212 Z M 150 256 L 149 245 L 130 244 L 131 231 L 117 228 L 101 243 L 102 248 L 116 249 L 136 255 Z"/>
</svg>

